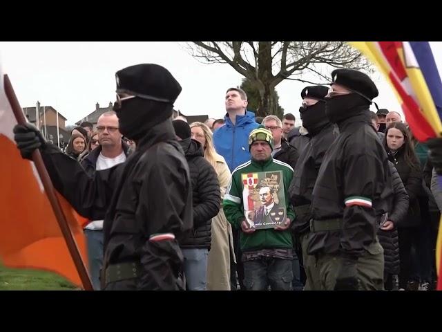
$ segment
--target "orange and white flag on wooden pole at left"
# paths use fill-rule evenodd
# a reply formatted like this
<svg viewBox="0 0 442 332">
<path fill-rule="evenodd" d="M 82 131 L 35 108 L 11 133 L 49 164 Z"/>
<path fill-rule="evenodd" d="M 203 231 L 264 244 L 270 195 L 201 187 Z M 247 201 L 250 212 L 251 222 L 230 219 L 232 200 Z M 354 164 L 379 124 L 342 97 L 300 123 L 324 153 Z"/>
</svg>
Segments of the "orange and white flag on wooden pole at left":
<svg viewBox="0 0 442 332">
<path fill-rule="evenodd" d="M 12 268 L 57 273 L 82 286 L 34 163 L 21 158 L 12 129 L 17 124 L 0 67 L 0 261 Z M 57 195 L 82 259 L 87 262 L 81 217 Z"/>
</svg>

